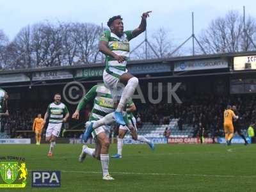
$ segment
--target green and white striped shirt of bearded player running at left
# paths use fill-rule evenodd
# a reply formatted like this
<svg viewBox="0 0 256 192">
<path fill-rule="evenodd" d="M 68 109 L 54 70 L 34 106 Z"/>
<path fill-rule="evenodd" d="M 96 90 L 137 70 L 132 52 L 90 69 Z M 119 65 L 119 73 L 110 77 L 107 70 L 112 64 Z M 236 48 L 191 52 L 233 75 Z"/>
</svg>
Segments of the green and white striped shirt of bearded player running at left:
<svg viewBox="0 0 256 192">
<path fill-rule="evenodd" d="M 63 122 L 63 116 L 68 113 L 68 108 L 62 102 L 52 102 L 47 108 L 49 115 L 49 124 L 60 124 Z"/>
</svg>

